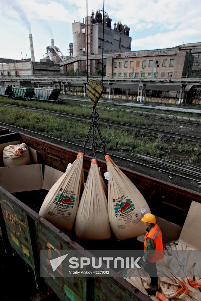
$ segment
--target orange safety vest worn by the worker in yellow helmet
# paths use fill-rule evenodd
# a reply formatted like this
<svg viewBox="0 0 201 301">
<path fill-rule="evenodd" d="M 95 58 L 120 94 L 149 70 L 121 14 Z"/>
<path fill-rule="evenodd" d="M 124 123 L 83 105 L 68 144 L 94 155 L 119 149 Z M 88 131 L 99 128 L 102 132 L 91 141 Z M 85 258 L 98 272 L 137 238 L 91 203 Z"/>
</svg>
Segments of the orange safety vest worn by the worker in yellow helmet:
<svg viewBox="0 0 201 301">
<path fill-rule="evenodd" d="M 149 262 L 156 262 L 159 259 L 163 259 L 163 243 L 162 243 L 162 232 L 159 226 L 154 223 L 155 226 L 151 229 L 151 231 L 147 232 L 144 237 L 144 253 L 146 252 L 146 239 L 149 237 L 154 241 L 155 244 L 155 252 L 152 257 L 147 259 Z"/>
</svg>

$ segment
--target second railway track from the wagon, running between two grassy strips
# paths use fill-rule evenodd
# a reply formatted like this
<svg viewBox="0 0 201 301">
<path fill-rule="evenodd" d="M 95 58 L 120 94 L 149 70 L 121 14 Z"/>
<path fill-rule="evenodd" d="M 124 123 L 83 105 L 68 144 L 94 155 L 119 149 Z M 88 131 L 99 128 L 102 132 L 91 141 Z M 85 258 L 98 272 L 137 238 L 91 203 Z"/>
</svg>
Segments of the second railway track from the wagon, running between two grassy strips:
<svg viewBox="0 0 201 301">
<path fill-rule="evenodd" d="M 44 113 L 59 116 L 59 117 L 62 117 L 62 118 L 63 117 L 68 117 L 68 118 L 73 118 L 73 119 L 77 119 L 77 120 L 83 120 L 83 121 L 91 122 L 90 117 L 72 115 L 72 114 L 67 114 L 67 113 L 59 113 L 59 112 L 55 112 L 55 111 L 35 109 L 35 108 L 30 108 L 30 107 L 22 107 L 22 106 L 10 105 L 10 104 L 1 104 L 1 105 L 7 106 L 7 107 L 17 107 L 17 108 L 20 108 L 20 109 L 23 109 L 23 110 L 34 110 L 34 111 L 37 110 L 38 112 L 44 112 Z M 180 139 L 184 139 L 184 140 L 187 140 L 187 141 L 193 141 L 193 142 L 201 142 L 201 138 L 196 137 L 196 136 L 189 136 L 189 135 L 184 135 L 184 134 L 179 134 L 179 133 L 163 131 L 163 130 L 159 130 L 159 129 L 146 128 L 144 126 L 135 126 L 135 125 L 131 125 L 131 124 L 119 123 L 119 122 L 108 121 L 108 120 L 103 120 L 103 119 L 99 119 L 99 122 L 102 123 L 102 124 L 115 126 L 117 128 L 134 129 L 134 130 L 138 130 L 138 131 L 141 131 L 141 132 L 147 132 L 147 133 L 150 133 L 150 134 L 164 135 L 164 136 L 168 136 L 168 137 L 172 137 L 172 138 L 180 138 Z"/>
</svg>

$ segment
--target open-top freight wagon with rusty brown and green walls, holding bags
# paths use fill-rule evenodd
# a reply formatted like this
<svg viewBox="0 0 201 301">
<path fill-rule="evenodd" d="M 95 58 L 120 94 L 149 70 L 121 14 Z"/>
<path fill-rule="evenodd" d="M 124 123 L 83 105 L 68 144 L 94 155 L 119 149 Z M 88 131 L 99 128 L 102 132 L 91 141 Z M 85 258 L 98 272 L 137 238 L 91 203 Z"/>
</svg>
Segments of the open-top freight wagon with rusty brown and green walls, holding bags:
<svg viewBox="0 0 201 301">
<path fill-rule="evenodd" d="M 40 288 L 40 250 L 103 250 L 103 242 L 75 239 L 72 232 L 60 231 L 39 216 L 42 202 L 68 163 L 77 152 L 39 140 L 21 133 L 2 135 L 0 138 L 0 226 L 4 241 L 9 241 L 17 253 L 32 267 Z M 4 167 L 3 148 L 10 144 L 26 143 L 30 150 L 31 165 Z M 84 156 L 85 180 L 91 157 Z M 107 171 L 106 162 L 97 160 L 102 175 Z M 164 242 L 177 240 L 192 201 L 201 202 L 201 194 L 167 182 L 121 168 L 145 197 L 156 216 Z M 176 225 L 175 225 L 176 224 Z M 137 250 L 141 244 L 136 238 L 127 241 L 111 239 L 110 250 Z M 140 246 L 142 247 L 142 246 Z M 58 251 L 59 256 L 59 251 Z M 50 258 L 51 252 L 50 252 Z M 62 265 L 59 269 L 62 275 Z M 123 278 L 44 278 L 46 284 L 61 300 L 71 301 L 131 301 L 150 300 Z"/>
</svg>

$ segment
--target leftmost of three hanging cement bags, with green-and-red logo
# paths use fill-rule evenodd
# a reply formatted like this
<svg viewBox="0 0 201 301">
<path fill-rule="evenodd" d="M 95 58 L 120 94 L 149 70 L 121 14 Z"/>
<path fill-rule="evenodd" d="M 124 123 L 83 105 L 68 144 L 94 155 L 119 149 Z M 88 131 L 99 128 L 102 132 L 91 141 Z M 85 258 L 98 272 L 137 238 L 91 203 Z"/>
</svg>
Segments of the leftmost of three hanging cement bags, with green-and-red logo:
<svg viewBox="0 0 201 301">
<path fill-rule="evenodd" d="M 52 186 L 39 211 L 39 215 L 64 230 L 72 230 L 80 195 L 84 187 L 83 153 L 70 169 Z"/>
</svg>

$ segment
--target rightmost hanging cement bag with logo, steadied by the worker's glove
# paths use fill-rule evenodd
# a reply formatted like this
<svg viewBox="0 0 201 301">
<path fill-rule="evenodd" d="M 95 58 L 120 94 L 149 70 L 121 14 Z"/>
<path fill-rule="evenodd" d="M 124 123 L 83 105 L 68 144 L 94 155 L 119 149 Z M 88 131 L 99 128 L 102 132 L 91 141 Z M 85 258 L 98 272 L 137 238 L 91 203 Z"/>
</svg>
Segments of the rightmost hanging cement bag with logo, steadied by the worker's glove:
<svg viewBox="0 0 201 301">
<path fill-rule="evenodd" d="M 109 174 L 108 216 L 112 231 L 119 240 L 145 234 L 141 208 L 146 206 L 146 213 L 150 213 L 146 200 L 108 155 L 105 159 Z"/>
</svg>

